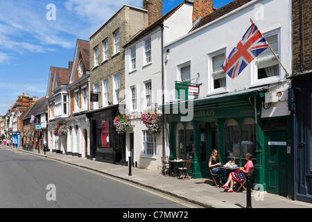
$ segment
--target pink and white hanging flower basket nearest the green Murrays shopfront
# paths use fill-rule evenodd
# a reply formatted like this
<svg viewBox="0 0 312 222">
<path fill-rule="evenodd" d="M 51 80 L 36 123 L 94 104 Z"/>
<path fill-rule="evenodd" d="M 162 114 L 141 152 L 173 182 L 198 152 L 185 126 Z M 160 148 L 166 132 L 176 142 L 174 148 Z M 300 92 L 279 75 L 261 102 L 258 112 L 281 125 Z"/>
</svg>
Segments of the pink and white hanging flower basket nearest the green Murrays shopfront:
<svg viewBox="0 0 312 222">
<path fill-rule="evenodd" d="M 157 135 L 162 131 L 162 114 L 154 111 L 146 110 L 141 114 L 141 121 L 150 130 L 150 133 Z"/>
</svg>

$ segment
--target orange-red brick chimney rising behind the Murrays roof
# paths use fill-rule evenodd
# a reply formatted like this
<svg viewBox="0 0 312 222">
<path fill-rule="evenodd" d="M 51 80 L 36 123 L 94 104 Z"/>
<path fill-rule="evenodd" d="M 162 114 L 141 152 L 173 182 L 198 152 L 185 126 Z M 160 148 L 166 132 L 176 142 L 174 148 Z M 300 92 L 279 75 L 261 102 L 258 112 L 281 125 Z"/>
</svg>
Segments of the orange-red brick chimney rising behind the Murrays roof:
<svg viewBox="0 0 312 222">
<path fill-rule="evenodd" d="M 214 12 L 212 0 L 193 0 L 192 24 L 211 12 Z"/>
</svg>

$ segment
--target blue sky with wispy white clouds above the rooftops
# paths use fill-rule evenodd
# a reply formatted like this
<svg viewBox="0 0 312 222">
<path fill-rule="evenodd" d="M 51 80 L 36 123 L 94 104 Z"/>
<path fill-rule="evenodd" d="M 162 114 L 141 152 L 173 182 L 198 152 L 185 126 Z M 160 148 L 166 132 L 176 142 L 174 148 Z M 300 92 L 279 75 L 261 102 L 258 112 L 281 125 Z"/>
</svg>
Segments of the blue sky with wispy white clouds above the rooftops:
<svg viewBox="0 0 312 222">
<path fill-rule="evenodd" d="M 164 0 L 163 13 L 181 2 Z M 142 0 L 0 0 L 0 115 L 23 93 L 45 96 L 50 66 L 68 67 L 76 40 L 89 40 L 124 4 L 142 8 Z"/>
</svg>

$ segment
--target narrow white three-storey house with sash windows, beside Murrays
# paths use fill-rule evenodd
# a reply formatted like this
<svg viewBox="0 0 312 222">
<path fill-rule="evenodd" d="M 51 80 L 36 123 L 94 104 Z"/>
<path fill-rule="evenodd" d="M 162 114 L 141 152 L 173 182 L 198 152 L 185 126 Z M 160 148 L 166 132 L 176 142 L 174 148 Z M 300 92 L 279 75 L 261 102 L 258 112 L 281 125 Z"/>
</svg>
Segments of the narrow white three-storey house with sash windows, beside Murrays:
<svg viewBox="0 0 312 222">
<path fill-rule="evenodd" d="M 135 35 L 125 47 L 125 110 L 132 126 L 126 132 L 126 155 L 132 155 L 137 167 L 159 170 L 161 158 L 169 155 L 166 132 L 150 133 L 141 121 L 145 110 L 162 112 L 163 46 L 186 35 L 192 28 L 193 8 L 200 1 L 183 1 L 153 24 Z M 206 8 L 212 10 L 212 8 Z M 167 148 L 166 148 L 167 146 Z"/>
</svg>

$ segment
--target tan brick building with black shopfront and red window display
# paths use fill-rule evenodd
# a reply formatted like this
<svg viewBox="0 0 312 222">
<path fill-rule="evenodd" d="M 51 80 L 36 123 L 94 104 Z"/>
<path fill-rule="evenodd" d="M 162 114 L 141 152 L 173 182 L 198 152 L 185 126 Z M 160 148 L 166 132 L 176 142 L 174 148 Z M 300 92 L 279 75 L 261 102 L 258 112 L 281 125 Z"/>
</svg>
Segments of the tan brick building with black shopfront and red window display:
<svg viewBox="0 0 312 222">
<path fill-rule="evenodd" d="M 124 104 L 123 45 L 148 24 L 148 12 L 121 7 L 90 37 L 90 156 L 103 162 L 125 163 L 125 135 L 116 133 L 114 118 Z"/>
</svg>

